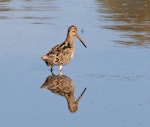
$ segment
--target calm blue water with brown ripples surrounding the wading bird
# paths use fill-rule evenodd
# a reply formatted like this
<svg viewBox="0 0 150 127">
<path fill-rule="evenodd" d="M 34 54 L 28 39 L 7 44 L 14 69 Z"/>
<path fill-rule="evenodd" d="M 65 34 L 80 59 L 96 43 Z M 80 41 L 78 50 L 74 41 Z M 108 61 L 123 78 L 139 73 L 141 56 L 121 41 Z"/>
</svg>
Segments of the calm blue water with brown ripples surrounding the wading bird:
<svg viewBox="0 0 150 127">
<path fill-rule="evenodd" d="M 150 126 L 149 0 L 1 0 L 0 126 Z M 71 113 L 63 96 L 41 89 L 51 75 L 40 57 L 77 25 L 87 45 L 63 74 L 74 84 Z M 57 74 L 57 67 L 54 68 Z"/>
</svg>

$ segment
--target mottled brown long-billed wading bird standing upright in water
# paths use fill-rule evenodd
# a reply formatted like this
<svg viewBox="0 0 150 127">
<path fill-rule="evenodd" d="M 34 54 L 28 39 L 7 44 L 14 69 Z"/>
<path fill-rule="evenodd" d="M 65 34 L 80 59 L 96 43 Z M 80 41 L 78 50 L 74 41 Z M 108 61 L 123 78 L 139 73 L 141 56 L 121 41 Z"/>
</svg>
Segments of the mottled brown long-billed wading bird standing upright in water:
<svg viewBox="0 0 150 127">
<path fill-rule="evenodd" d="M 61 71 L 62 66 L 69 63 L 73 58 L 74 36 L 76 36 L 86 47 L 86 45 L 78 35 L 77 27 L 70 26 L 68 28 L 66 40 L 63 43 L 54 46 L 46 55 L 41 57 L 41 59 L 45 61 L 47 66 L 51 66 L 51 71 L 53 71 L 53 66 L 59 66 L 59 71 Z"/>
</svg>

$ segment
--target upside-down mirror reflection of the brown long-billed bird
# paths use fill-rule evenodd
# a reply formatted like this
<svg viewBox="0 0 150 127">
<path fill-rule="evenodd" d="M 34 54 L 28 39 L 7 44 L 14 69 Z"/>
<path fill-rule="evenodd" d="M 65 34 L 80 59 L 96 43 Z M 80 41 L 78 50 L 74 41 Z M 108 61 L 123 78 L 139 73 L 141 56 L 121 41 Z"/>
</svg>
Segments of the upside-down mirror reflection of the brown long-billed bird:
<svg viewBox="0 0 150 127">
<path fill-rule="evenodd" d="M 67 100 L 70 112 L 76 112 L 78 110 L 78 103 L 86 91 L 85 88 L 80 96 L 75 100 L 73 81 L 66 75 L 55 75 L 53 73 L 46 78 L 41 88 L 46 88 L 52 93 L 64 96 Z"/>
</svg>

